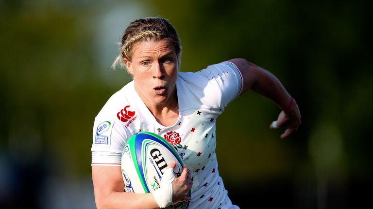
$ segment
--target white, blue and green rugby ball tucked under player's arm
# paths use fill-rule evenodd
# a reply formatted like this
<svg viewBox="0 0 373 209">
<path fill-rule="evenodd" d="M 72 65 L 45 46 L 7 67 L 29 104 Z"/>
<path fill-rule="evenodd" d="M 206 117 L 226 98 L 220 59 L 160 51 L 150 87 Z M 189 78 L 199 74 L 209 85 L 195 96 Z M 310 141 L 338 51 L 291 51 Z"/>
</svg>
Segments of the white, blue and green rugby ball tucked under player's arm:
<svg viewBox="0 0 373 209">
<path fill-rule="evenodd" d="M 126 192 L 152 193 L 159 189 L 162 174 L 172 161 L 176 177 L 183 171 L 179 153 L 164 138 L 150 132 L 138 132 L 124 146 L 121 171 Z M 190 190 L 189 190 L 190 196 Z M 186 209 L 189 202 L 180 202 L 170 209 Z"/>
</svg>

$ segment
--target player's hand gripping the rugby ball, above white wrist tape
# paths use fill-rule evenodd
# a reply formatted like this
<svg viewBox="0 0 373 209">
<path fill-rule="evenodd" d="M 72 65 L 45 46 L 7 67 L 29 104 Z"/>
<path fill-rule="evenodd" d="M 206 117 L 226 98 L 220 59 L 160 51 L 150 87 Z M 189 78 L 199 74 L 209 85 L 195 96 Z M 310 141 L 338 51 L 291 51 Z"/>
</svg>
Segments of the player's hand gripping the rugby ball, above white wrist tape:
<svg viewBox="0 0 373 209">
<path fill-rule="evenodd" d="M 172 161 L 168 167 L 175 168 L 176 162 Z M 173 204 L 183 201 L 190 201 L 188 197 L 189 189 L 192 188 L 193 181 L 190 180 L 190 171 L 186 168 L 186 165 L 183 166 L 183 171 L 180 177 L 175 178 L 172 181 L 172 202 Z"/>
</svg>

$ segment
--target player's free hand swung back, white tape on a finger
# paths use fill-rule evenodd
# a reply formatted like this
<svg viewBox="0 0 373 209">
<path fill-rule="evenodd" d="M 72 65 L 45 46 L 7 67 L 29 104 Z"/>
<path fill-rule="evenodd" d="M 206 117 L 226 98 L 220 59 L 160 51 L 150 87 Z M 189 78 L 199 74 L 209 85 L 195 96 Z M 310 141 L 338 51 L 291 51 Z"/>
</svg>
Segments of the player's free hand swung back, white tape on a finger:
<svg viewBox="0 0 373 209">
<path fill-rule="evenodd" d="M 293 104 L 286 110 L 286 112 L 284 110 L 280 112 L 280 115 L 278 116 L 276 122 L 278 127 L 287 127 L 285 132 L 281 134 L 281 138 L 286 138 L 291 133 L 298 130 L 298 127 L 301 125 L 301 114 L 298 104 L 296 104 L 295 100 Z M 275 128 L 277 127 L 273 127 L 272 124 L 270 125 L 270 129 Z"/>
</svg>

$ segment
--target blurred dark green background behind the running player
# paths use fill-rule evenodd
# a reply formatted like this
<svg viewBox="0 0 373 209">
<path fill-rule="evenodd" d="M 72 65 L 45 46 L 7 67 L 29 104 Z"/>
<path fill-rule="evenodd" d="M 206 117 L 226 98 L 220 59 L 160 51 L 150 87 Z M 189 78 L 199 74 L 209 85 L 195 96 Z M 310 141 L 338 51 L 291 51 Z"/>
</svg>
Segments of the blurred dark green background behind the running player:
<svg viewBox="0 0 373 209">
<path fill-rule="evenodd" d="M 372 183 L 372 1 L 0 0 L 0 208 L 95 208 L 93 120 L 131 80 L 110 65 L 136 18 L 169 19 L 181 71 L 245 58 L 296 99 L 302 126 L 248 92 L 218 119 L 220 175 L 241 208 L 360 208 Z"/>
</svg>

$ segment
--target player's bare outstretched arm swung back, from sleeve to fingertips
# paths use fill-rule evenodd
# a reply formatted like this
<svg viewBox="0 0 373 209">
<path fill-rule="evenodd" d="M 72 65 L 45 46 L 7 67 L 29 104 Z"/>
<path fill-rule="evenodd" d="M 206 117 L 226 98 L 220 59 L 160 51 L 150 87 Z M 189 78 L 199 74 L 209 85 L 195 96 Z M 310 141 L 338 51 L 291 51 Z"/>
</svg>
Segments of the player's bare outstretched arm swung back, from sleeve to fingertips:
<svg viewBox="0 0 373 209">
<path fill-rule="evenodd" d="M 294 131 L 297 131 L 301 124 L 301 114 L 296 101 L 288 94 L 281 82 L 269 71 L 245 59 L 229 61 L 234 63 L 242 74 L 241 95 L 247 90 L 253 90 L 268 97 L 282 109 L 277 118 L 277 126 L 285 126 L 287 129 L 281 134 L 281 138 L 286 138 Z M 275 127 L 271 124 L 270 128 L 273 129 Z"/>
</svg>

